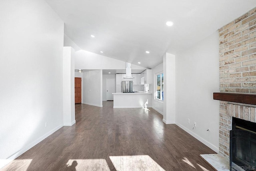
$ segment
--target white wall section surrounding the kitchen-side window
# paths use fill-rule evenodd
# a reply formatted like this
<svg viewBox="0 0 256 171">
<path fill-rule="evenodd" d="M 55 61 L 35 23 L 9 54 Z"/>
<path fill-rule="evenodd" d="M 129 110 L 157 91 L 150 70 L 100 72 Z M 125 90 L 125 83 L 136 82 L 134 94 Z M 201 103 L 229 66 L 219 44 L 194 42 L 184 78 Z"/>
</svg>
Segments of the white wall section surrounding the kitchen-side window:
<svg viewBox="0 0 256 171">
<path fill-rule="evenodd" d="M 156 96 L 156 74 L 164 71 L 164 63 L 152 68 L 152 108 L 163 115 L 164 112 L 164 102 L 155 100 Z"/>
</svg>

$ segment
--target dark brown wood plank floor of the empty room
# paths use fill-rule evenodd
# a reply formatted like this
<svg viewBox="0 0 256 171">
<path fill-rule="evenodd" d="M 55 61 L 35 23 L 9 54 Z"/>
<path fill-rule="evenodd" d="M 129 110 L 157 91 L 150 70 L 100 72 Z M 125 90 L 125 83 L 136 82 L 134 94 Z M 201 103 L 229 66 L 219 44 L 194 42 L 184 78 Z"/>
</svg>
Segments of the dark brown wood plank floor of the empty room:
<svg viewBox="0 0 256 171">
<path fill-rule="evenodd" d="M 76 104 L 76 124 L 64 126 L 1 170 L 212 171 L 200 154 L 215 153 L 154 109 Z"/>
</svg>

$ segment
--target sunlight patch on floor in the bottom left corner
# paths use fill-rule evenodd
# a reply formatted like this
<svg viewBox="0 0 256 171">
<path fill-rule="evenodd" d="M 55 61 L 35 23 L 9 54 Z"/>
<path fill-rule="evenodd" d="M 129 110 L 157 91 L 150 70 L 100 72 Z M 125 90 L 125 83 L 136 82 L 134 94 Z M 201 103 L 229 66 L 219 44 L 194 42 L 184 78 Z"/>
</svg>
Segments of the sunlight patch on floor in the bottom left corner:
<svg viewBox="0 0 256 171">
<path fill-rule="evenodd" d="M 26 171 L 28 169 L 30 163 L 32 162 L 32 160 L 33 159 L 15 159 L 10 162 L 10 160 L 8 160 L 8 159 L 6 159 L 6 160 L 1 159 L 0 163 L 2 165 L 2 163 L 7 164 L 10 162 L 8 165 L 6 165 L 6 168 L 8 167 L 8 170 L 11 170 L 11 171 Z M 3 167 L 3 169 L 4 168 L 5 167 Z M 0 169 L 1 169 L 1 167 L 0 167 Z"/>
</svg>

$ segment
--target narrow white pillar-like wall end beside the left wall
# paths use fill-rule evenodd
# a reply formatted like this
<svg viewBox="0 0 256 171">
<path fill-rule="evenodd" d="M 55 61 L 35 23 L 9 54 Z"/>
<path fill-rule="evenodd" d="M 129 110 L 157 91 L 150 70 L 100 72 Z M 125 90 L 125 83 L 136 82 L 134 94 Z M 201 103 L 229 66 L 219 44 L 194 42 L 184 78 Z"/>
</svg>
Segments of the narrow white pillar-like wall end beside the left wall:
<svg viewBox="0 0 256 171">
<path fill-rule="evenodd" d="M 63 123 L 71 126 L 75 120 L 74 49 L 63 48 Z"/>
</svg>

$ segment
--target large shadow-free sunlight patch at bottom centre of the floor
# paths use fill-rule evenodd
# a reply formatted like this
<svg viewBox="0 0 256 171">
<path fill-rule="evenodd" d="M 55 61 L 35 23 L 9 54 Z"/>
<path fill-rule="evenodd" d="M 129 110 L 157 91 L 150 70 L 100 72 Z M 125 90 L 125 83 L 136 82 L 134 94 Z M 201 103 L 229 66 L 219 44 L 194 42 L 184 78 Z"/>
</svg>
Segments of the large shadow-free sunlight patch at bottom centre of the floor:
<svg viewBox="0 0 256 171">
<path fill-rule="evenodd" d="M 110 156 L 109 158 L 117 171 L 164 171 L 164 169 L 148 155 Z"/>
</svg>

